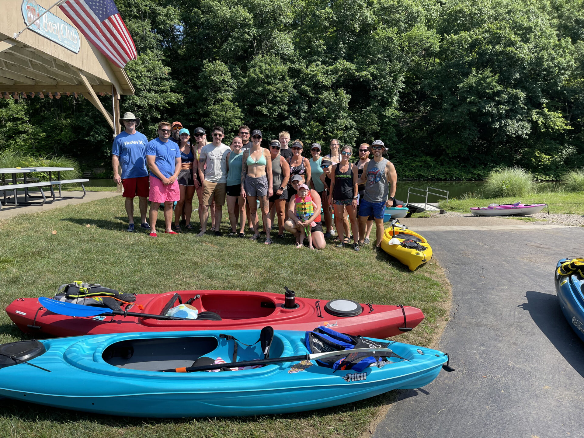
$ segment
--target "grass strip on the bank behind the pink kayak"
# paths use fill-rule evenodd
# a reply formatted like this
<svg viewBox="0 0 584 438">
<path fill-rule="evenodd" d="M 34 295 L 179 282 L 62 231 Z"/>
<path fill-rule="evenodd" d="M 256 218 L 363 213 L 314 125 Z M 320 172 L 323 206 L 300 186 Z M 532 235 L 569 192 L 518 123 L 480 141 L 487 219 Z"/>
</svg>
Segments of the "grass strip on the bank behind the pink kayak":
<svg viewBox="0 0 584 438">
<path fill-rule="evenodd" d="M 440 202 L 440 208 L 447 211 L 470 213 L 470 207 L 486 207 L 489 204 L 514 204 L 522 201 L 524 204 L 548 204 L 550 213 L 584 214 L 584 192 L 544 192 L 514 198 L 482 198 L 465 197 Z"/>
</svg>

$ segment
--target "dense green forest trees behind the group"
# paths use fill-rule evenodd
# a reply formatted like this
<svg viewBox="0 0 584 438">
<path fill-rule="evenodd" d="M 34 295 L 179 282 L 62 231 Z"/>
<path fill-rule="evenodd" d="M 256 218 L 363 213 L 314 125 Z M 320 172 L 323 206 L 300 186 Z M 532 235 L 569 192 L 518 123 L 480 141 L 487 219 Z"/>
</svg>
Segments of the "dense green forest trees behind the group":
<svg viewBox="0 0 584 438">
<path fill-rule="evenodd" d="M 116 0 L 138 59 L 121 112 L 156 135 L 240 124 L 328 152 L 381 138 L 400 178 L 584 166 L 584 0 Z M 106 107 L 110 98 L 103 97 Z M 111 173 L 83 98 L 0 99 L 0 152 Z"/>
</svg>

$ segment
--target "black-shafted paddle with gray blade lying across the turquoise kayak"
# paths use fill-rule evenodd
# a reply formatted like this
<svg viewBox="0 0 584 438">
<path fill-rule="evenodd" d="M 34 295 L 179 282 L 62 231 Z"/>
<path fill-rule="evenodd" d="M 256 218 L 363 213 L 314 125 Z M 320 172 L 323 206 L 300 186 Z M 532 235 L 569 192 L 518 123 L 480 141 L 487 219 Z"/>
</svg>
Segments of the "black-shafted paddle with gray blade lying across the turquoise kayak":
<svg viewBox="0 0 584 438">
<path fill-rule="evenodd" d="M 326 357 L 334 356 L 349 356 L 354 353 L 372 353 L 371 356 L 381 356 L 381 357 L 399 357 L 399 359 L 405 359 L 405 357 L 398 356 L 392 350 L 388 348 L 354 348 L 352 350 L 334 351 L 326 353 L 313 353 L 313 354 L 302 354 L 301 356 L 289 356 L 289 357 L 274 357 L 273 359 L 263 359 L 263 360 L 242 360 L 239 362 L 231 363 L 218 363 L 211 365 L 201 365 L 198 367 L 183 367 L 183 368 L 173 368 L 169 370 L 158 370 L 162 373 L 191 373 L 192 371 L 209 371 L 209 370 L 220 370 L 222 368 L 235 368 L 235 367 L 249 367 L 254 365 L 268 365 L 272 363 L 284 363 L 293 362 L 297 360 L 317 360 L 325 359 Z M 377 354 L 376 354 L 377 353 Z"/>
</svg>

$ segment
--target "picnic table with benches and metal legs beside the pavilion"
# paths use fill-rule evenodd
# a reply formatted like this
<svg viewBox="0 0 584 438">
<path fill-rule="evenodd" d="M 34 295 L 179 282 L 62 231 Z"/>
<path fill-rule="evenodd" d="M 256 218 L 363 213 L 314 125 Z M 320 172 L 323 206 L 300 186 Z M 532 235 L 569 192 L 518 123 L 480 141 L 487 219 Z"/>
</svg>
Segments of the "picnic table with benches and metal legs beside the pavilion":
<svg viewBox="0 0 584 438">
<path fill-rule="evenodd" d="M 13 192 L 14 196 L 14 204 L 18 206 L 18 190 L 24 190 L 25 193 L 25 203 L 30 203 L 27 201 L 27 198 L 43 198 L 43 201 L 39 203 L 39 205 L 44 205 L 46 203 L 47 198 L 43 192 L 43 187 L 49 187 L 51 191 L 51 196 L 53 199 L 50 201 L 51 203 L 57 197 L 55 195 L 55 191 L 53 189 L 54 186 L 58 186 L 59 188 L 59 196 L 60 198 L 83 198 L 85 197 L 85 186 L 83 185 L 84 182 L 88 182 L 89 179 L 61 179 L 61 172 L 62 171 L 72 171 L 74 170 L 72 167 L 27 167 L 27 168 L 0 168 L 0 175 L 2 175 L 2 179 L 0 182 L 0 191 L 4 193 L 4 204 L 8 202 L 6 199 L 6 192 Z M 34 182 L 29 182 L 27 180 L 27 175 L 33 172 L 48 172 L 48 181 L 39 182 L 38 178 L 33 178 Z M 57 172 L 57 179 L 53 180 L 53 172 Z M 22 173 L 22 183 L 18 181 L 16 175 Z M 6 183 L 6 175 L 11 175 L 9 181 L 11 183 Z M 81 188 L 83 189 L 82 196 L 62 196 L 61 192 L 61 185 L 69 184 L 69 183 L 81 183 Z M 41 196 L 32 196 L 29 194 L 29 189 L 39 189 Z M 2 208 L 2 202 L 0 201 L 0 208 Z"/>
</svg>

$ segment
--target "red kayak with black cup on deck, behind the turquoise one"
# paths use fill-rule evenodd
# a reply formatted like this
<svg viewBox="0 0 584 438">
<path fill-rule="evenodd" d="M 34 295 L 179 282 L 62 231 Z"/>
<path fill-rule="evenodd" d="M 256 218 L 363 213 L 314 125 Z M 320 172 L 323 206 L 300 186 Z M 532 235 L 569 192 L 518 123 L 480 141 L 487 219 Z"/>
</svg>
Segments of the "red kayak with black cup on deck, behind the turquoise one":
<svg viewBox="0 0 584 438">
<path fill-rule="evenodd" d="M 197 295 L 199 297 L 197 297 Z M 165 294 L 138 294 L 122 310 L 161 315 L 180 297 L 201 312 L 214 312 L 220 321 L 159 320 L 117 315 L 68 317 L 41 307 L 37 298 L 19 298 L 6 313 L 25 333 L 50 336 L 99 335 L 103 333 L 261 329 L 310 331 L 324 325 L 351 335 L 388 338 L 409 331 L 424 318 L 421 310 L 401 305 L 359 304 L 350 300 L 321 301 L 296 297 L 296 308 L 284 307 L 283 294 L 238 290 L 180 290 Z M 176 303 L 178 305 L 178 303 Z M 287 303 L 286 305 L 288 305 Z M 290 307 L 290 305 L 288 305 Z M 211 314 L 210 314 L 211 315 Z"/>
</svg>

